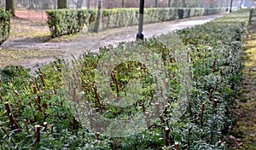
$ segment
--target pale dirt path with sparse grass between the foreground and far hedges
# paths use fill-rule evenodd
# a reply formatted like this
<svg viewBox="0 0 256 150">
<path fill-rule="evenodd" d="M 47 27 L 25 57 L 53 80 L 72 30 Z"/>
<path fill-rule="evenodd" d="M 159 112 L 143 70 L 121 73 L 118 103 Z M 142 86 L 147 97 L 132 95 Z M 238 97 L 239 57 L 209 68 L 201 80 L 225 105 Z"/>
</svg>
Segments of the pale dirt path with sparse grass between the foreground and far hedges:
<svg viewBox="0 0 256 150">
<path fill-rule="evenodd" d="M 144 26 L 143 33 L 145 38 L 152 38 L 173 30 L 201 25 L 222 15 L 215 14 L 149 24 Z M 40 12 L 38 18 L 40 18 Z M 0 68 L 9 65 L 32 67 L 52 61 L 55 57 L 77 56 L 87 50 L 97 51 L 100 47 L 108 46 L 108 44 L 133 41 L 137 34 L 137 26 L 129 26 L 99 33 L 89 33 L 84 30 L 73 36 L 51 39 L 45 21 L 24 20 L 15 17 L 11 22 L 10 38 L 0 46 Z"/>
</svg>

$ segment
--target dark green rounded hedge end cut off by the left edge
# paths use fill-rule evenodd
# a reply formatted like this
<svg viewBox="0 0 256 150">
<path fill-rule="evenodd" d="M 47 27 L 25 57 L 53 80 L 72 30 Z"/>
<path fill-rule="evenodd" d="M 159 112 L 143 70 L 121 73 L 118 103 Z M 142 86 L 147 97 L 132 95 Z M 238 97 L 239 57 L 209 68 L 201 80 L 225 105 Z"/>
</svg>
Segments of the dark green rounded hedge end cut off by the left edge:
<svg viewBox="0 0 256 150">
<path fill-rule="evenodd" d="M 2 45 L 7 38 L 9 38 L 10 17 L 11 15 L 9 12 L 0 9 L 0 45 Z"/>
</svg>

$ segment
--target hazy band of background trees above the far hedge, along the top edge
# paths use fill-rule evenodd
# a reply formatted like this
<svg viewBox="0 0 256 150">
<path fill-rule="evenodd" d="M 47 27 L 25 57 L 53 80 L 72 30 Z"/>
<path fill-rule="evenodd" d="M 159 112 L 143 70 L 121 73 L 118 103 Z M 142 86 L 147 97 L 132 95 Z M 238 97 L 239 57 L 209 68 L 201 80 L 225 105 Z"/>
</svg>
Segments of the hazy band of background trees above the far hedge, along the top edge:
<svg viewBox="0 0 256 150">
<path fill-rule="evenodd" d="M 15 15 L 15 5 L 17 3 L 25 2 L 26 9 L 67 9 L 72 5 L 73 9 L 97 9 L 98 5 L 102 3 L 102 8 L 135 8 L 139 6 L 140 0 L 0 0 L 4 3 L 5 9 L 9 10 Z M 101 1 L 101 2 L 100 2 Z M 253 3 L 255 0 L 148 0 L 145 1 L 145 7 L 181 7 L 181 8 L 214 8 L 214 7 L 228 7 L 234 2 L 235 5 L 242 3 Z M 22 5 L 22 4 L 21 4 Z M 237 6 L 239 7 L 239 6 Z"/>
</svg>

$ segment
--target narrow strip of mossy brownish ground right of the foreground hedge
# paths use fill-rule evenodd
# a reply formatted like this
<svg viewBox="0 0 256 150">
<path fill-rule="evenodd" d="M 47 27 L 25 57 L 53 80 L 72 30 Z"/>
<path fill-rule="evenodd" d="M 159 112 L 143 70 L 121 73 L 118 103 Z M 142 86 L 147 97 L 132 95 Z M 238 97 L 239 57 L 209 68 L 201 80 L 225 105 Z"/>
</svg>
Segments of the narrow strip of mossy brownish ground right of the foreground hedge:
<svg viewBox="0 0 256 150">
<path fill-rule="evenodd" d="M 235 149 L 256 150 L 256 16 L 248 28 L 241 95 L 237 100 L 236 125 L 230 140 Z"/>
</svg>

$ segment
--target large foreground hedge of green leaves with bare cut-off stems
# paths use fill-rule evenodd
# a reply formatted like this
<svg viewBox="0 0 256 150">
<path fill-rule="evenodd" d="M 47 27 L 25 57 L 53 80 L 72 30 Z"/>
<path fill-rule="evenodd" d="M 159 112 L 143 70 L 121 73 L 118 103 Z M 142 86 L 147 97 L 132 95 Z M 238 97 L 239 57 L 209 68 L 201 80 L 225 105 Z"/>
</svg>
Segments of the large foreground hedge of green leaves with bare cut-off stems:
<svg viewBox="0 0 256 150">
<path fill-rule="evenodd" d="M 232 124 L 232 109 L 241 80 L 242 45 L 251 14 L 251 10 L 239 10 L 203 26 L 144 42 L 119 43 L 71 62 L 56 59 L 33 75 L 22 66 L 5 67 L 0 80 L 1 147 L 226 149 L 223 139 Z M 105 62 L 115 56 L 113 52 L 136 49 L 146 50 L 149 55 L 143 51 L 138 54 L 151 56 L 152 67 L 160 65 L 160 72 L 154 73 L 151 66 L 132 57 L 117 64 L 112 64 L 115 61 L 111 59 L 109 64 Z M 157 58 L 160 60 L 154 60 Z M 186 72 L 182 72 L 183 67 Z M 101 75 L 108 76 L 109 91 L 114 95 L 132 93 L 129 82 L 133 80 L 141 84 L 141 93 L 131 107 L 111 105 L 104 99 Z M 192 81 L 185 85 L 193 86 L 183 86 L 184 78 Z M 161 101 L 153 102 L 155 96 L 165 100 L 163 107 L 159 107 Z M 180 110 L 180 97 L 186 99 L 185 111 Z M 151 111 L 150 107 L 158 111 Z M 88 109 L 93 110 L 86 116 L 83 110 Z M 90 118 L 100 114 L 112 120 L 136 122 L 131 116 L 136 118 L 140 113 L 146 126 L 130 136 L 110 136 L 108 130 L 102 129 L 100 119 Z"/>
</svg>

